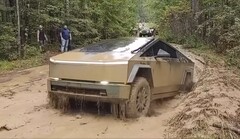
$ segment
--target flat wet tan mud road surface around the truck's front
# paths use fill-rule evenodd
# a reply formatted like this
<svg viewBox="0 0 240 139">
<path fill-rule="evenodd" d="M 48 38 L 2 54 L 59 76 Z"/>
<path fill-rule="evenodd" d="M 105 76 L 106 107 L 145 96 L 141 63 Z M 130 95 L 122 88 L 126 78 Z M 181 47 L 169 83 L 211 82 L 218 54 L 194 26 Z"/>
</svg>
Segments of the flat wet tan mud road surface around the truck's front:
<svg viewBox="0 0 240 139">
<path fill-rule="evenodd" d="M 1 138 L 161 137 L 177 99 L 159 104 L 156 117 L 121 121 L 112 116 L 61 113 L 48 107 L 48 66 L 1 77 Z M 164 113 L 164 114 L 161 114 Z"/>
</svg>

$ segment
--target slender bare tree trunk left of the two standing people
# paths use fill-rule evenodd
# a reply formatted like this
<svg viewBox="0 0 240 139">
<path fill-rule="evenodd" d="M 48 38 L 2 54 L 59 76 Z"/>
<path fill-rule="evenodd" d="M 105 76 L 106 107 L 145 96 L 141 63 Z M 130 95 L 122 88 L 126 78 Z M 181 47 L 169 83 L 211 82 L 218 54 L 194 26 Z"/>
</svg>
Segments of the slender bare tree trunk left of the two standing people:
<svg viewBox="0 0 240 139">
<path fill-rule="evenodd" d="M 20 26 L 20 10 L 19 10 L 18 0 L 16 0 L 16 6 L 17 6 L 17 23 L 18 23 L 17 45 L 18 45 L 18 54 L 21 57 L 21 26 Z"/>
</svg>

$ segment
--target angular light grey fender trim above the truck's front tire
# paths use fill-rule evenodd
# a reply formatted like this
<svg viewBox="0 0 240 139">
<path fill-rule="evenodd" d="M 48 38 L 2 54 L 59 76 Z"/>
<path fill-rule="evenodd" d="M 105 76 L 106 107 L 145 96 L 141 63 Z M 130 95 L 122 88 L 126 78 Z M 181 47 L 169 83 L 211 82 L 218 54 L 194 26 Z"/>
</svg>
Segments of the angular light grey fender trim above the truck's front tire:
<svg viewBox="0 0 240 139">
<path fill-rule="evenodd" d="M 134 79 L 137 76 L 138 71 L 140 69 L 150 69 L 151 70 L 151 67 L 149 65 L 143 65 L 143 64 L 134 65 L 133 68 L 132 68 L 132 71 L 131 71 L 131 73 L 128 77 L 127 83 L 132 83 L 134 81 Z"/>
</svg>

